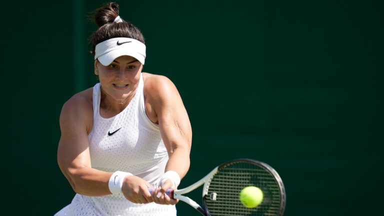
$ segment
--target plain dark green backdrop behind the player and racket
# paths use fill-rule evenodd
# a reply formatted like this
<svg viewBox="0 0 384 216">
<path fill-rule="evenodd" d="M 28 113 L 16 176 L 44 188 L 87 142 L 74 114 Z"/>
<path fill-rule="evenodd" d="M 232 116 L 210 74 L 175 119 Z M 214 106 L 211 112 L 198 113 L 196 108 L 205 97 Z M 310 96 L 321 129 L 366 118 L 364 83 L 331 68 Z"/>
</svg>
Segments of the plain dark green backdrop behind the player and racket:
<svg viewBox="0 0 384 216">
<path fill-rule="evenodd" d="M 58 116 L 97 82 L 86 16 L 104 2 L 1 6 L 2 215 L 53 215 L 74 195 L 56 162 Z M 381 212 L 383 3 L 117 2 L 146 38 L 143 71 L 169 77 L 188 111 L 191 166 L 180 187 L 249 157 L 280 173 L 284 215 Z"/>
</svg>

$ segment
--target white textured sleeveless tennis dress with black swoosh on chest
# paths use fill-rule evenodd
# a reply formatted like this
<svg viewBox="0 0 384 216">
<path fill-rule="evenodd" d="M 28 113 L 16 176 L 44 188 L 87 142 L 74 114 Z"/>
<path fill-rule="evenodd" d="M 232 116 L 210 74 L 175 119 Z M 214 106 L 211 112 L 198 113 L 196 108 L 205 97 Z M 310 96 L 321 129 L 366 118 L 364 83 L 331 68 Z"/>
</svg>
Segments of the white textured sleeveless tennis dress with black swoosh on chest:
<svg viewBox="0 0 384 216">
<path fill-rule="evenodd" d="M 155 184 L 164 173 L 168 154 L 159 126 L 151 122 L 145 113 L 143 86 L 140 75 L 132 100 L 124 110 L 110 118 L 100 116 L 100 83 L 93 86 L 93 127 L 88 134 L 89 152 L 92 168 L 130 172 Z M 76 194 L 67 209 L 73 213 L 66 215 L 176 215 L 174 205 L 153 202 L 135 204 L 122 194 Z"/>
</svg>

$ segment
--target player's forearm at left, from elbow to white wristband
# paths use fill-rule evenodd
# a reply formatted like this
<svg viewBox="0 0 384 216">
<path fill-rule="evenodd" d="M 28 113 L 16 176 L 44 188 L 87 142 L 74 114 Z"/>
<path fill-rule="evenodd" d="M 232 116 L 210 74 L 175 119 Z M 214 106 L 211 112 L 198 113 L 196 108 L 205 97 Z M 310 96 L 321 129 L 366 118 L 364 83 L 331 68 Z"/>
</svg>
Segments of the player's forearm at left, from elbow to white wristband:
<svg viewBox="0 0 384 216">
<path fill-rule="evenodd" d="M 88 196 L 111 194 L 108 187 L 111 172 L 79 167 L 67 168 L 64 174 L 76 193 Z"/>
</svg>

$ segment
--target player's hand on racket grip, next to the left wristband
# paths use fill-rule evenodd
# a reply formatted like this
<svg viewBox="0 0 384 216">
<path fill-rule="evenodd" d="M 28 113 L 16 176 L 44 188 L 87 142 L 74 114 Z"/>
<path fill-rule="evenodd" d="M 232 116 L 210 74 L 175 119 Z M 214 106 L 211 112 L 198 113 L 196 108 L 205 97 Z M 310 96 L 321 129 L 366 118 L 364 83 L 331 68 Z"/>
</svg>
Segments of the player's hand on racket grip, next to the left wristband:
<svg viewBox="0 0 384 216">
<path fill-rule="evenodd" d="M 152 187 L 144 179 L 130 175 L 123 180 L 121 191 L 126 199 L 133 203 L 149 203 L 153 201 L 148 187 Z"/>
</svg>

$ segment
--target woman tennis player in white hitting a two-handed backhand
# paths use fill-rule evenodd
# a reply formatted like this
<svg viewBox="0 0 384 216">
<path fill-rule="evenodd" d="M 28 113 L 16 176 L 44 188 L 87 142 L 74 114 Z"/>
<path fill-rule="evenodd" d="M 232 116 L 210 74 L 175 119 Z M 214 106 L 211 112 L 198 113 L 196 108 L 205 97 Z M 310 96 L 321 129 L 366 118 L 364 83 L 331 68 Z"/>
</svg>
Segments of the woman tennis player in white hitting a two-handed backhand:
<svg viewBox="0 0 384 216">
<path fill-rule="evenodd" d="M 177 200 L 164 192 L 189 168 L 190 122 L 174 84 L 141 72 L 144 38 L 118 9 L 95 12 L 99 83 L 61 110 L 57 161 L 76 194 L 55 215 L 176 215 Z"/>
</svg>

